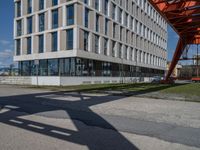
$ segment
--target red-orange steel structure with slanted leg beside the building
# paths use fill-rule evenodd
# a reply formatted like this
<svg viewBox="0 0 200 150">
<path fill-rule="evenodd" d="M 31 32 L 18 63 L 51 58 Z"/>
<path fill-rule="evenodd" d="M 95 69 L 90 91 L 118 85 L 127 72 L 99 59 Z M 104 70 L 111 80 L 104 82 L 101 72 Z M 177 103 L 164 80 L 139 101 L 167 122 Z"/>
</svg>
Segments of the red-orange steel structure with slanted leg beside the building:
<svg viewBox="0 0 200 150">
<path fill-rule="evenodd" d="M 187 46 L 200 44 L 200 0 L 149 0 L 149 2 L 179 35 L 176 51 L 166 75 L 168 81 Z"/>
</svg>

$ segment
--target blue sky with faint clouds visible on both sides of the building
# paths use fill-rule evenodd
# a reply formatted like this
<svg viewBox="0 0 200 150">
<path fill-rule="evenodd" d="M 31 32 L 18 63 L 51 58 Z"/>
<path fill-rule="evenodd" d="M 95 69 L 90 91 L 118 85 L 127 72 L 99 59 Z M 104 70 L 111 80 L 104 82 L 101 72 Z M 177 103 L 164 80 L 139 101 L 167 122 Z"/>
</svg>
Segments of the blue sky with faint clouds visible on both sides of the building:
<svg viewBox="0 0 200 150">
<path fill-rule="evenodd" d="M 0 67 L 13 63 L 13 16 L 13 0 L 0 0 Z M 171 60 L 178 36 L 170 27 L 168 31 L 168 60 Z"/>
</svg>

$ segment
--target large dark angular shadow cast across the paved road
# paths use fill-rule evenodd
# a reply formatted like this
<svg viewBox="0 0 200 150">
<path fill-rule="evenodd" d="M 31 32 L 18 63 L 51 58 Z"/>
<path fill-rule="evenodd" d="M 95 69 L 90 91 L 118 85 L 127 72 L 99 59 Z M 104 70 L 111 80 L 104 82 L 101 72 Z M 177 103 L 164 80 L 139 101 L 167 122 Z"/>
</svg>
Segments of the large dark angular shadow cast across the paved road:
<svg viewBox="0 0 200 150">
<path fill-rule="evenodd" d="M 66 97 L 67 100 L 60 100 L 60 98 Z M 89 108 L 92 105 L 118 100 L 118 98 L 120 97 L 84 97 L 80 93 L 70 94 L 61 92 L 0 97 L 1 106 L 16 107 L 13 111 L 0 113 L 0 122 L 31 132 L 81 144 L 87 146 L 90 150 L 138 150 L 136 146 L 120 134 L 109 122 L 92 112 Z M 60 128 L 20 118 L 20 116 L 25 116 L 27 113 L 38 114 L 61 109 L 65 110 L 69 117 L 73 119 L 72 121 L 77 131 L 72 131 L 67 129 L 67 127 Z M 88 130 L 88 128 L 79 121 L 88 126 L 102 127 L 111 130 L 106 130 L 106 132 L 105 130 L 103 132 L 101 128 Z"/>
</svg>

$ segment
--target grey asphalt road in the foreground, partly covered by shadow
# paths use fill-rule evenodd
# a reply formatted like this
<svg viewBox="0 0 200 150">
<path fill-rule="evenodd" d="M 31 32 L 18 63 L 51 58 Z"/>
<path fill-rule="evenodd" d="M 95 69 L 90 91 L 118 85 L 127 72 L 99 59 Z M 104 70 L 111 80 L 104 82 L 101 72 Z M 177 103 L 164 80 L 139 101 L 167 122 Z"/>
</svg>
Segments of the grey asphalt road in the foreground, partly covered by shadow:
<svg viewBox="0 0 200 150">
<path fill-rule="evenodd" d="M 0 108 L 0 149 L 200 149 L 199 103 L 0 85 Z"/>
</svg>

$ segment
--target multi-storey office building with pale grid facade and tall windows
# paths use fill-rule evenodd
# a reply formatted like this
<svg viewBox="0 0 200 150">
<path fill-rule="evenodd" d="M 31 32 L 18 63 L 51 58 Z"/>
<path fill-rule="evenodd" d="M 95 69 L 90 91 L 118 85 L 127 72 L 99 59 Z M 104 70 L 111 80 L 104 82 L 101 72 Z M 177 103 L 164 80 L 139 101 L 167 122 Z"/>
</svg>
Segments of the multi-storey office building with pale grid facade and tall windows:
<svg viewBox="0 0 200 150">
<path fill-rule="evenodd" d="M 21 76 L 81 84 L 164 75 L 167 23 L 148 0 L 14 2 Z"/>
</svg>

